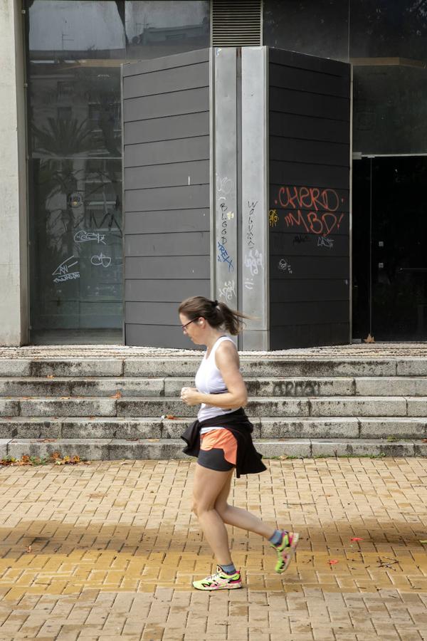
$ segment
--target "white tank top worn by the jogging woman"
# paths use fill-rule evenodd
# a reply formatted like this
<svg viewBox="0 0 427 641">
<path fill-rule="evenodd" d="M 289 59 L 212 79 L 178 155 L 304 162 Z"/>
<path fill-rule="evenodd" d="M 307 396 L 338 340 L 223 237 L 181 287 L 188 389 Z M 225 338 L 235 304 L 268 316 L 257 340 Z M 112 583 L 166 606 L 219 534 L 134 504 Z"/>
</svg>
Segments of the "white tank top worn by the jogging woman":
<svg viewBox="0 0 427 641">
<path fill-rule="evenodd" d="M 216 340 L 216 343 L 212 345 L 211 353 L 208 358 L 206 358 L 206 354 L 204 355 L 204 358 L 200 363 L 199 370 L 197 370 L 195 379 L 196 388 L 203 394 L 224 394 L 228 391 L 223 377 L 221 376 L 221 372 L 218 370 L 215 363 L 216 350 L 218 349 L 218 345 L 221 345 L 224 340 L 231 340 L 231 343 L 234 344 L 233 340 L 229 338 L 229 336 L 220 336 L 218 340 Z M 202 403 L 197 419 L 199 421 L 204 421 L 209 418 L 214 418 L 215 416 L 220 417 L 224 414 L 230 414 L 230 412 L 234 412 L 234 410 L 223 410 L 222 407 Z M 211 432 L 212 429 L 219 428 L 221 428 L 219 425 L 218 427 L 202 427 L 200 433 L 206 434 L 206 432 Z"/>
</svg>

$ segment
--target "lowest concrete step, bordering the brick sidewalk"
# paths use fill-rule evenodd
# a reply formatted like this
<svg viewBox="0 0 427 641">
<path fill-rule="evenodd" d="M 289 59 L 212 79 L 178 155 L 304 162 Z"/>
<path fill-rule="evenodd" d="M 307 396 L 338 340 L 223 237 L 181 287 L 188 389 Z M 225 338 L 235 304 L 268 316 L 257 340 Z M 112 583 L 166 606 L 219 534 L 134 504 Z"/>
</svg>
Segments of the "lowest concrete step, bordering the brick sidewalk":
<svg viewBox="0 0 427 641">
<path fill-rule="evenodd" d="M 179 439 L 0 439 L 0 457 L 78 455 L 86 460 L 186 459 Z M 408 439 L 259 439 L 255 447 L 265 458 L 426 456 L 427 444 Z M 194 459 L 193 459 L 194 460 Z"/>
</svg>

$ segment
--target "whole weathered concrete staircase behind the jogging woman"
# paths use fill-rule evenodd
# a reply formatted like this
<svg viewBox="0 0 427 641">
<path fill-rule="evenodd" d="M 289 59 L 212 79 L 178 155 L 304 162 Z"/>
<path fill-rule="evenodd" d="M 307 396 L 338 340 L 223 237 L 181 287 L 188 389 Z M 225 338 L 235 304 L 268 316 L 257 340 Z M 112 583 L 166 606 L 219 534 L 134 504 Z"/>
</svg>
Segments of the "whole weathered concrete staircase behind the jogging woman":
<svg viewBox="0 0 427 641">
<path fill-rule="evenodd" d="M 265 457 L 425 456 L 427 358 L 335 348 L 243 353 Z M 187 459 L 179 400 L 200 353 L 132 348 L 0 350 L 0 457 Z M 174 416 L 174 419 L 163 418 Z"/>
</svg>

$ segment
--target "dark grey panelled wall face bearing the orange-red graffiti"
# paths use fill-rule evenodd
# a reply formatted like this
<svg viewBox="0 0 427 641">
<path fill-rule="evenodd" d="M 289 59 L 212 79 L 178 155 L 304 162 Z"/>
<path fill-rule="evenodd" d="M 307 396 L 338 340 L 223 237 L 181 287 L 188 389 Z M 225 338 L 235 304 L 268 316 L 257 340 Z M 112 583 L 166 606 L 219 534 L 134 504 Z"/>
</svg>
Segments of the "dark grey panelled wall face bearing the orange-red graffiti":
<svg viewBox="0 0 427 641">
<path fill-rule="evenodd" d="M 349 342 L 349 69 L 269 50 L 273 350 Z"/>
</svg>

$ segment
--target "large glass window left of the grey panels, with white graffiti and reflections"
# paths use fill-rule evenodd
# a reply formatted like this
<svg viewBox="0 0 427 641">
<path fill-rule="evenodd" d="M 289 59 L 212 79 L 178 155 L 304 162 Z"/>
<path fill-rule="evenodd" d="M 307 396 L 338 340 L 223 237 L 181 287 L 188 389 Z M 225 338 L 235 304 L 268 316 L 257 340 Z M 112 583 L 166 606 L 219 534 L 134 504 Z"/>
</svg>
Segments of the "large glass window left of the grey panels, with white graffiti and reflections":
<svg viewBox="0 0 427 641">
<path fill-rule="evenodd" d="M 209 46 L 209 2 L 26 9 L 31 340 L 120 342 L 120 65 Z"/>
</svg>

